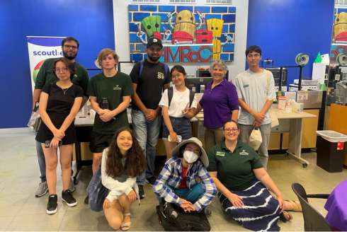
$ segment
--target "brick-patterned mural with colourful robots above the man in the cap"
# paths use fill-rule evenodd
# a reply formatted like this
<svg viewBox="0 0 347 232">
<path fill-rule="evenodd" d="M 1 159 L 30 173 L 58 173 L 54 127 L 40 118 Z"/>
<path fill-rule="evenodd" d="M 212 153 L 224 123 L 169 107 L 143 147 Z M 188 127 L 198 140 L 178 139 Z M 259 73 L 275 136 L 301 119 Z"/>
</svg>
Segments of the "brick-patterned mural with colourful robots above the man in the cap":
<svg viewBox="0 0 347 232">
<path fill-rule="evenodd" d="M 235 7 L 129 5 L 128 10 L 131 61 L 147 58 L 150 37 L 163 42 L 161 62 L 234 60 Z"/>
</svg>

